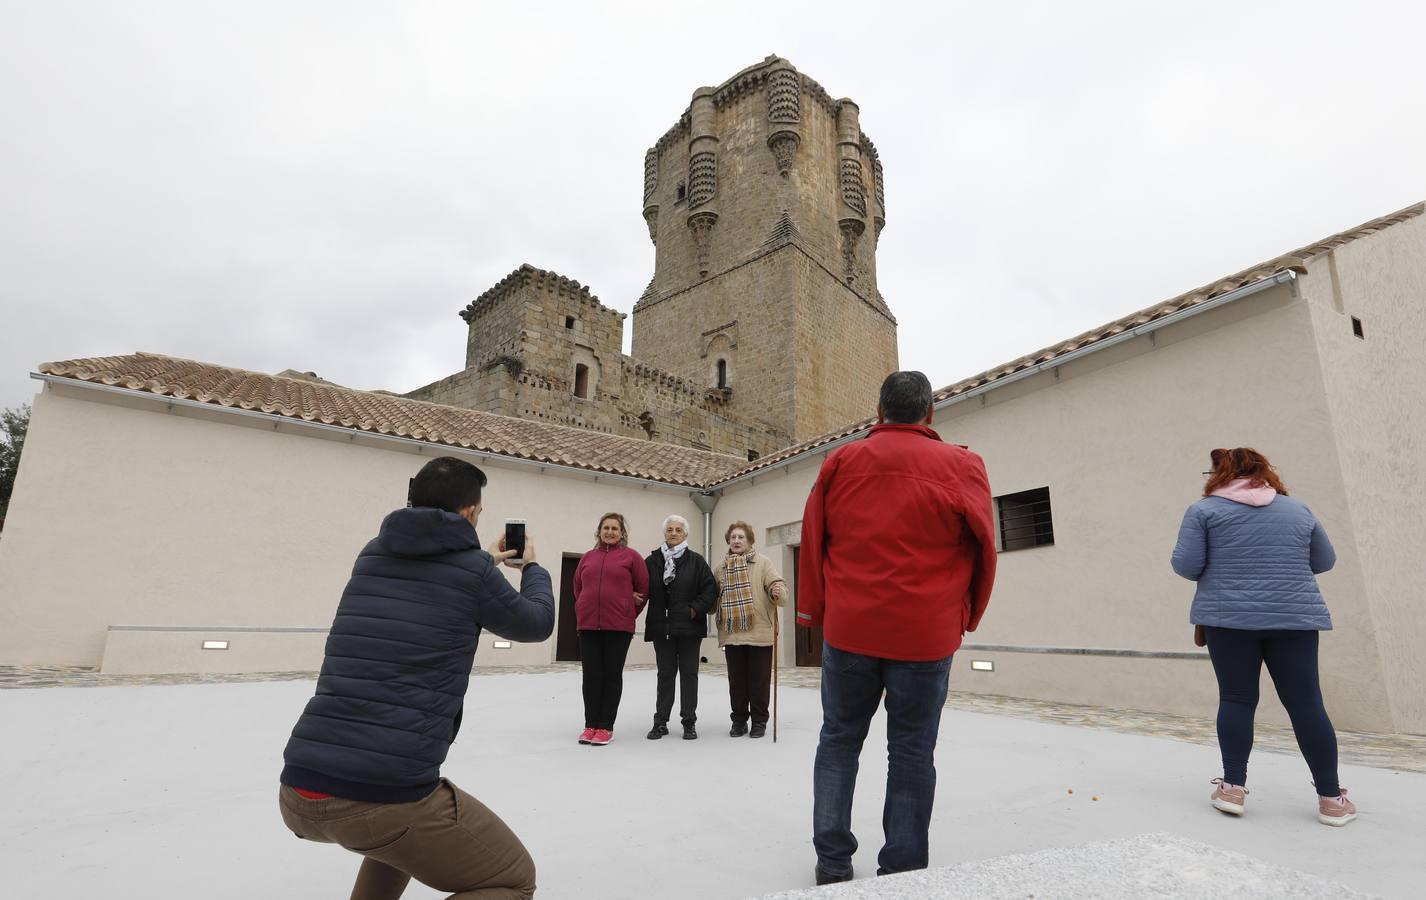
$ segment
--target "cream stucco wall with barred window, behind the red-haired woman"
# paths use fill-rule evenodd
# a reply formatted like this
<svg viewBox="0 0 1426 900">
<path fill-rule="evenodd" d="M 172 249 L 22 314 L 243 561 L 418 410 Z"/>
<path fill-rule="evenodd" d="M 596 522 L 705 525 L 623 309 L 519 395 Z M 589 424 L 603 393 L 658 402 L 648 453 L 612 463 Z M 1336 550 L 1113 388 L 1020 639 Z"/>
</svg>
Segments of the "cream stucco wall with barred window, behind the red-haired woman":
<svg viewBox="0 0 1426 900">
<path fill-rule="evenodd" d="M 985 458 L 997 495 L 1048 486 L 1054 511 L 1054 546 L 1001 553 L 990 612 L 968 642 L 1195 650 L 1194 586 L 1168 558 L 1184 509 L 1201 496 L 1208 452 L 1256 446 L 1339 551 L 1320 581 L 1336 623 L 1322 645 L 1329 710 L 1343 727 L 1390 730 L 1313 348 L 1308 305 L 1283 285 L 1070 362 L 1058 377 L 1007 385 L 984 405 L 943 409 L 937 429 Z M 739 518 L 759 529 L 799 521 L 816 472 L 803 464 L 729 488 L 714 532 Z M 965 672 L 973 656 L 995 672 Z M 1216 697 L 1206 660 L 967 650 L 953 680 L 960 690 L 1201 716 Z M 1263 719 L 1285 722 L 1266 679 L 1262 697 Z"/>
</svg>

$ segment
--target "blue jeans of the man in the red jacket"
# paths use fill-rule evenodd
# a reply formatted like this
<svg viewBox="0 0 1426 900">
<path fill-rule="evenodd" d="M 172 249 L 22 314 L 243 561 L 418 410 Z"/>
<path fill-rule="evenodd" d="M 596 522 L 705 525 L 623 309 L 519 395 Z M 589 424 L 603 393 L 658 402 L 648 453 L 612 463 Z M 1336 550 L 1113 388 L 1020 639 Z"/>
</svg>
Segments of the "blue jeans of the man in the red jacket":
<svg viewBox="0 0 1426 900">
<path fill-rule="evenodd" d="M 931 806 L 935 803 L 935 739 L 950 683 L 951 658 L 928 662 L 880 659 L 821 650 L 821 737 L 813 766 L 813 847 L 827 874 L 851 871 L 857 839 L 851 833 L 851 794 L 861 745 L 886 693 L 887 802 L 881 812 L 886 844 L 877 874 L 925 869 Z"/>
</svg>

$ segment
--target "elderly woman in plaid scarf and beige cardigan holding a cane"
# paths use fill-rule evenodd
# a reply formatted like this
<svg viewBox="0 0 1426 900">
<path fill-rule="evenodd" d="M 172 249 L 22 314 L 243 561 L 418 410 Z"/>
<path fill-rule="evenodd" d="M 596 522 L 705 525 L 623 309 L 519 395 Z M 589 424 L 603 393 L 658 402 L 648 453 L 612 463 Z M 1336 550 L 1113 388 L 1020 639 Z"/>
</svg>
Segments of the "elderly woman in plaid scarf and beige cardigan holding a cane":
<svg viewBox="0 0 1426 900">
<path fill-rule="evenodd" d="M 723 539 L 727 556 L 714 576 L 722 588 L 717 639 L 727 658 L 727 692 L 733 705 L 729 736 L 763 737 L 767 735 L 777 608 L 787 602 L 787 585 L 773 561 L 753 551 L 753 528 L 747 522 L 729 525 Z"/>
</svg>

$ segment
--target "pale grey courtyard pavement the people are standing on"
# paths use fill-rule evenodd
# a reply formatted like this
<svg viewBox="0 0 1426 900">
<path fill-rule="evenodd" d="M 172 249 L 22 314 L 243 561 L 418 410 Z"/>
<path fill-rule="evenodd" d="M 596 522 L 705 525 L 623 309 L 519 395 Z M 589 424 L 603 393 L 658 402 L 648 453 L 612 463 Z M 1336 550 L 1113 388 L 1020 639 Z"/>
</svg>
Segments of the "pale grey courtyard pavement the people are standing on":
<svg viewBox="0 0 1426 900">
<path fill-rule="evenodd" d="M 542 900 L 807 887 L 816 690 L 781 690 L 774 746 L 727 737 L 726 682 L 704 676 L 702 689 L 702 739 L 649 742 L 653 673 L 629 672 L 615 743 L 582 747 L 578 673 L 472 679 L 445 774 L 523 837 Z M 0 896 L 345 897 L 358 857 L 298 840 L 277 813 L 282 745 L 311 690 L 289 680 L 0 692 Z M 876 871 L 884 759 L 878 716 L 858 783 L 858 879 Z M 1208 806 L 1216 765 L 1215 750 L 1164 737 L 948 709 L 938 869 L 793 896 L 1426 893 L 1426 774 L 1345 766 L 1363 812 L 1329 829 L 1299 757 L 1255 756 L 1241 820 Z M 1322 880 L 1352 890 L 1333 894 Z"/>
</svg>

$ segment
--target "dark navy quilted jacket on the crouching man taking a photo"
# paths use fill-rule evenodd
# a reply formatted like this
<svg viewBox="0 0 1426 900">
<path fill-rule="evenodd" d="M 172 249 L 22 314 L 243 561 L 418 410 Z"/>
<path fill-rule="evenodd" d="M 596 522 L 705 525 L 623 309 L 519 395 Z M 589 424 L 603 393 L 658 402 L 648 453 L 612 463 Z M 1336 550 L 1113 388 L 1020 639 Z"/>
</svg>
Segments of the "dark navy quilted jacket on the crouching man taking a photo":
<svg viewBox="0 0 1426 900">
<path fill-rule="evenodd" d="M 515 590 L 475 528 L 441 509 L 398 509 L 362 549 L 337 606 L 327 656 L 282 757 L 284 784 L 348 800 L 431 793 L 461 722 L 482 629 L 545 640 L 549 572 Z"/>
</svg>

